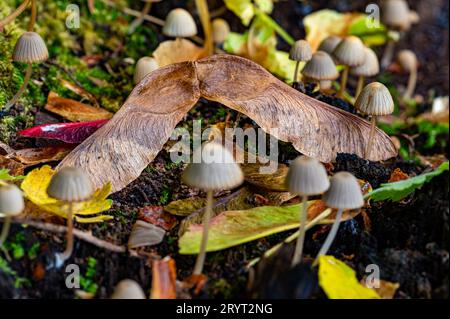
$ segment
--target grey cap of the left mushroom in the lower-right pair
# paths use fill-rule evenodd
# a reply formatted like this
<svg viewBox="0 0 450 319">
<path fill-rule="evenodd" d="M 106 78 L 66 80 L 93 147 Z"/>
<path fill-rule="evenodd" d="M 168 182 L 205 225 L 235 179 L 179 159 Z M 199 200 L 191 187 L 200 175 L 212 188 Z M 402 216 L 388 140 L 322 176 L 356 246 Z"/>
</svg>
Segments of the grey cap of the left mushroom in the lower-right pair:
<svg viewBox="0 0 450 319">
<path fill-rule="evenodd" d="M 330 187 L 325 167 L 307 156 L 299 156 L 292 162 L 285 183 L 291 193 L 302 196 L 322 194 Z"/>
</svg>

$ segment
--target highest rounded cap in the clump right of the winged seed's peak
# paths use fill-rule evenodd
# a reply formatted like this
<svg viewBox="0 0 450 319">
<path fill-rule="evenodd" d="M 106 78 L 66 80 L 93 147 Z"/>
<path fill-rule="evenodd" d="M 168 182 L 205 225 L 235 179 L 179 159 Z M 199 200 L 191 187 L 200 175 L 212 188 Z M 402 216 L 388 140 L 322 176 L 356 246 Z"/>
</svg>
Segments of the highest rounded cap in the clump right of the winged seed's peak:
<svg viewBox="0 0 450 319">
<path fill-rule="evenodd" d="M 363 64 L 366 58 L 364 48 L 361 39 L 351 35 L 339 42 L 333 51 L 333 56 L 341 64 L 351 67 L 358 66 Z"/>
</svg>

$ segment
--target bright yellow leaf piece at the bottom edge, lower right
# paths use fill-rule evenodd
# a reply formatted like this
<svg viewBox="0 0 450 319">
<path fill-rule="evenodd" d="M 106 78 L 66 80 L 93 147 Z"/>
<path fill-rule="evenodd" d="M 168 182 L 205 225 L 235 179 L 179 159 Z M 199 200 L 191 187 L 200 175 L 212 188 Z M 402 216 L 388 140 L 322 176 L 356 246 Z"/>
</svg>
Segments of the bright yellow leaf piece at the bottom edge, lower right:
<svg viewBox="0 0 450 319">
<path fill-rule="evenodd" d="M 353 269 L 333 256 L 319 257 L 319 284 L 330 299 L 380 299 L 358 282 Z"/>
</svg>

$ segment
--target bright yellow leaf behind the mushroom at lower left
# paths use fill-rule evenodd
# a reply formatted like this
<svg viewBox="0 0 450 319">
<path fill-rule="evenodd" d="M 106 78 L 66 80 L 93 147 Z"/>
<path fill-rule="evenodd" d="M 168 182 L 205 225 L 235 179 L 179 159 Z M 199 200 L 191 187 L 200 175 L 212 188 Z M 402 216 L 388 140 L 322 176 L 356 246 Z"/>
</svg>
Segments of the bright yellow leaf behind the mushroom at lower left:
<svg viewBox="0 0 450 319">
<path fill-rule="evenodd" d="M 55 215 L 67 218 L 67 204 L 47 195 L 47 187 L 55 171 L 48 165 L 37 168 L 25 177 L 21 188 L 24 195 L 41 209 Z M 111 219 L 112 216 L 89 216 L 78 217 L 77 215 L 95 215 L 108 210 L 112 205 L 112 200 L 107 199 L 111 192 L 111 183 L 105 184 L 102 188 L 95 191 L 89 201 L 75 203 L 73 205 L 75 220 L 84 223 L 99 222 Z"/>
</svg>

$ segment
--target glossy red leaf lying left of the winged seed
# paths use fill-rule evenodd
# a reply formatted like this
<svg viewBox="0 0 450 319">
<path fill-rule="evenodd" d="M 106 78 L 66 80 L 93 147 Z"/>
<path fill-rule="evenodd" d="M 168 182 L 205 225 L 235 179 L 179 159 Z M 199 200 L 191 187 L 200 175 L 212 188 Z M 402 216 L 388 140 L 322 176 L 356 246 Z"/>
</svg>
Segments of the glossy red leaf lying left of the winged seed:
<svg viewBox="0 0 450 319">
<path fill-rule="evenodd" d="M 44 124 L 20 131 L 18 134 L 26 137 L 57 139 L 66 143 L 81 143 L 106 122 L 108 120 Z"/>
</svg>

